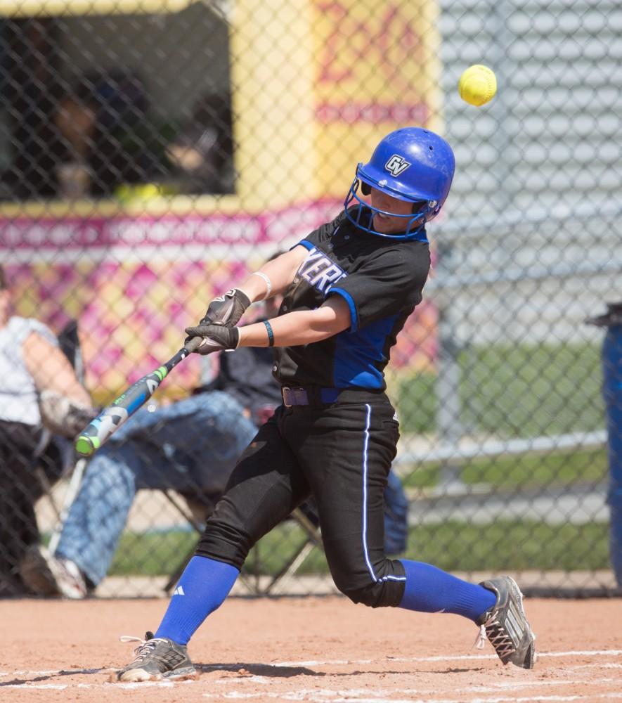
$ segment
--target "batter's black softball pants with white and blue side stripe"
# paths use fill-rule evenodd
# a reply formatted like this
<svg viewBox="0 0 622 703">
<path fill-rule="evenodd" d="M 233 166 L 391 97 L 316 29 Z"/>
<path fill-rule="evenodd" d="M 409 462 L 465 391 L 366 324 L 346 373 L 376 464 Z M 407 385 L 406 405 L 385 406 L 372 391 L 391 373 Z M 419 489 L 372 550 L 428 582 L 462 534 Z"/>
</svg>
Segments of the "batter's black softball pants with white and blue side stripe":
<svg viewBox="0 0 622 703">
<path fill-rule="evenodd" d="M 383 550 L 394 412 L 385 394 L 363 391 L 328 406 L 280 406 L 233 470 L 197 555 L 240 569 L 254 543 L 312 494 L 339 591 L 372 607 L 399 605 L 404 569 Z"/>
</svg>

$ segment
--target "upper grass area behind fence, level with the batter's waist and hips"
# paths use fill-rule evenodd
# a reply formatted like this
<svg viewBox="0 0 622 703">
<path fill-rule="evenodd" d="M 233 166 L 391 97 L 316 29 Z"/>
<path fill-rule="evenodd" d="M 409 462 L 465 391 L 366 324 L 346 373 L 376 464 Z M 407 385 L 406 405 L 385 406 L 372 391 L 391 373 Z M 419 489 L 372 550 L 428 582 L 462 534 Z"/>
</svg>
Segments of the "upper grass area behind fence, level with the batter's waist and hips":
<svg viewBox="0 0 622 703">
<path fill-rule="evenodd" d="M 500 437 L 604 426 L 600 347 L 539 344 L 467 347 L 458 356 L 461 422 Z M 403 432 L 435 432 L 436 375 L 392 375 Z"/>
</svg>

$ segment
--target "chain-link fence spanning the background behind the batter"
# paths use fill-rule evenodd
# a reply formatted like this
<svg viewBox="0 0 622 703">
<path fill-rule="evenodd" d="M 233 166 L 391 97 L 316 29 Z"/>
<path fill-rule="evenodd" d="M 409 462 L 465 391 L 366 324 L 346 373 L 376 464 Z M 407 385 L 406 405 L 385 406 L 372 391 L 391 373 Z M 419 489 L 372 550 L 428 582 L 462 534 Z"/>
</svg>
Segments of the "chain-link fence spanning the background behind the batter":
<svg viewBox="0 0 622 703">
<path fill-rule="evenodd" d="M 608 458 L 603 333 L 585 318 L 622 286 L 618 3 L 7 0 L 1 15 L 2 595 L 23 591 L 20 565 L 47 588 L 39 541 L 70 560 L 54 577 L 73 595 L 175 583 L 276 403 L 270 361 L 191 357 L 90 463 L 41 428 L 41 389 L 84 405 L 72 362 L 108 403 L 213 295 L 337 214 L 356 163 L 406 124 L 446 136 L 457 169 L 388 376 L 403 553 L 614 591 L 621 430 Z M 482 108 L 456 90 L 474 63 L 498 79 Z M 263 394 L 250 414 L 227 373 Z M 305 506 L 254 548 L 242 588 L 330 588 L 317 545 Z"/>
</svg>

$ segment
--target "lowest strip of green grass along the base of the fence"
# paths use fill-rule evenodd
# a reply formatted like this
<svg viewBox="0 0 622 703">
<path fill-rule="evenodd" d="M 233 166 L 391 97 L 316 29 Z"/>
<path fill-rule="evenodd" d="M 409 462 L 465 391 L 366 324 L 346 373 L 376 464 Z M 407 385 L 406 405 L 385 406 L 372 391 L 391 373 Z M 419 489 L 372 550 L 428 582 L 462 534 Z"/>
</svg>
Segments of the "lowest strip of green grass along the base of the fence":
<svg viewBox="0 0 622 703">
<path fill-rule="evenodd" d="M 592 570 L 609 568 L 607 524 L 557 524 L 498 521 L 488 525 L 444 522 L 411 529 L 404 557 L 429 562 L 447 571 Z M 304 534 L 292 523 L 266 535 L 249 555 L 245 572 L 276 574 Z M 122 536 L 110 574 L 158 576 L 171 574 L 193 550 L 191 532 Z M 313 550 L 299 574 L 325 574 L 325 557 Z"/>
</svg>

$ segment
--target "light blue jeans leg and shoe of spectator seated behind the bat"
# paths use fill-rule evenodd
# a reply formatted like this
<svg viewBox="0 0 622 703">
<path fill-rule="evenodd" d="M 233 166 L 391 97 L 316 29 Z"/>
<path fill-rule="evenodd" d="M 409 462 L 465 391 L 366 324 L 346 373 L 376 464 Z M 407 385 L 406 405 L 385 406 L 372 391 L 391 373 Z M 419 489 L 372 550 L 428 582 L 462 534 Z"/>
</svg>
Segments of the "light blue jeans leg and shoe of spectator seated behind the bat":
<svg viewBox="0 0 622 703">
<path fill-rule="evenodd" d="M 266 389 L 268 383 L 278 396 L 266 374 Z M 56 552 L 31 548 L 22 579 L 39 595 L 84 598 L 108 572 L 136 491 L 219 496 L 257 432 L 255 422 L 232 389 L 199 392 L 136 413 L 89 463 Z"/>
</svg>

